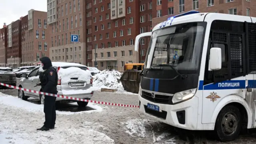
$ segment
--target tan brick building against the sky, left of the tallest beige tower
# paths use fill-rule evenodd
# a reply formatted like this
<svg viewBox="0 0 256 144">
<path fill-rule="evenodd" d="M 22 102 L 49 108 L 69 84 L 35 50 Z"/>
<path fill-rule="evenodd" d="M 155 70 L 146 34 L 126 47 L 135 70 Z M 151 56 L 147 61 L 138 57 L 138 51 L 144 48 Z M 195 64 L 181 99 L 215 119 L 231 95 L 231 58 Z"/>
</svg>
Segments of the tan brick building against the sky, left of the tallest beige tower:
<svg viewBox="0 0 256 144">
<path fill-rule="evenodd" d="M 49 56 L 48 29 L 47 12 L 32 9 L 21 18 L 21 66 L 36 66 L 41 57 Z"/>
</svg>

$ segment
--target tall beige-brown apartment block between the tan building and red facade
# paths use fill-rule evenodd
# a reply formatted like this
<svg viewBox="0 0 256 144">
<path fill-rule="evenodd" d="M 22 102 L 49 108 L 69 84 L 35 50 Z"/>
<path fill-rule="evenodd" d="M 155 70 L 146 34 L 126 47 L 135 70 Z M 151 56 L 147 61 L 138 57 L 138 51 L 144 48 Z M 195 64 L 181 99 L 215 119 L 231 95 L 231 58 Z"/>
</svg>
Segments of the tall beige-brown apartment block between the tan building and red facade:
<svg viewBox="0 0 256 144">
<path fill-rule="evenodd" d="M 86 64 L 86 0 L 48 0 L 48 26 L 50 32 L 50 58 L 52 61 Z M 79 42 L 71 42 L 71 34 Z"/>
</svg>

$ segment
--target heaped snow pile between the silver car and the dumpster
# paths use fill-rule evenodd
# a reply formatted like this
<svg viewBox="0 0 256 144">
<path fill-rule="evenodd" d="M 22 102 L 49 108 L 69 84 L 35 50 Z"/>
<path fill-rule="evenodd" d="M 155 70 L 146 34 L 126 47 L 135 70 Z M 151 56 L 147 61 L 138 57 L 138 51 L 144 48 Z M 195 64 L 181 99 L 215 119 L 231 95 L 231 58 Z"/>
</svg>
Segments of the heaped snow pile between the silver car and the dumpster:
<svg viewBox="0 0 256 144">
<path fill-rule="evenodd" d="M 121 72 L 116 70 L 102 70 L 100 73 L 92 76 L 93 86 L 97 88 L 110 88 L 118 89 L 122 86 L 120 78 L 122 76 Z"/>
</svg>

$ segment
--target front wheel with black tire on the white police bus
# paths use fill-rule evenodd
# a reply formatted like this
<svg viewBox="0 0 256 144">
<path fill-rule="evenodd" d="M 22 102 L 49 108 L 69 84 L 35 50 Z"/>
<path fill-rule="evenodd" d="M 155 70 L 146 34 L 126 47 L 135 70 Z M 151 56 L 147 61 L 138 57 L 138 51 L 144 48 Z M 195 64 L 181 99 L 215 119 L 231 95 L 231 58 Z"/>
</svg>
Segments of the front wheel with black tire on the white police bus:
<svg viewBox="0 0 256 144">
<path fill-rule="evenodd" d="M 222 108 L 215 123 L 215 131 L 220 141 L 228 142 L 238 138 L 242 128 L 241 112 L 236 106 Z"/>
</svg>

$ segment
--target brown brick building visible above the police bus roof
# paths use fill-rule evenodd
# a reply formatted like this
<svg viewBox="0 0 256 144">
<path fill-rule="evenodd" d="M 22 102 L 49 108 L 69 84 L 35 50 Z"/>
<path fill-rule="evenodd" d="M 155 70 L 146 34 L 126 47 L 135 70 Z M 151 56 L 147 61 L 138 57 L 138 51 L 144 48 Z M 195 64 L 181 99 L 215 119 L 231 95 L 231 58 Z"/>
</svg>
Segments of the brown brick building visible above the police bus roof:
<svg viewBox="0 0 256 144">
<path fill-rule="evenodd" d="M 152 26 L 168 17 L 197 10 L 256 17 L 255 0 L 153 0 Z"/>
</svg>

